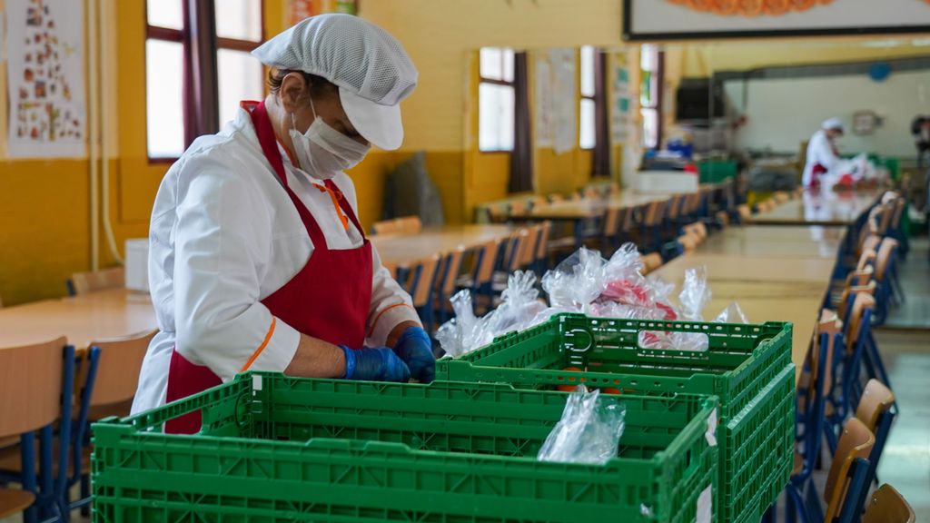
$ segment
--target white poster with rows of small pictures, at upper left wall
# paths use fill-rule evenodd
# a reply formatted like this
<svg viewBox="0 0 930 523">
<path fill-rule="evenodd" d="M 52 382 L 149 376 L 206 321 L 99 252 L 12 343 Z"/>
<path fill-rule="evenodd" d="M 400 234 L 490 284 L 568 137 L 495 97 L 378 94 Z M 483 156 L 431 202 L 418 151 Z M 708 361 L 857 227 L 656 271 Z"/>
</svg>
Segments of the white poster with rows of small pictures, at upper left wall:
<svg viewBox="0 0 930 523">
<path fill-rule="evenodd" d="M 84 3 L 7 0 L 9 155 L 85 155 Z"/>
</svg>

